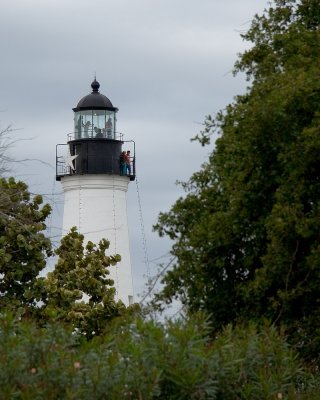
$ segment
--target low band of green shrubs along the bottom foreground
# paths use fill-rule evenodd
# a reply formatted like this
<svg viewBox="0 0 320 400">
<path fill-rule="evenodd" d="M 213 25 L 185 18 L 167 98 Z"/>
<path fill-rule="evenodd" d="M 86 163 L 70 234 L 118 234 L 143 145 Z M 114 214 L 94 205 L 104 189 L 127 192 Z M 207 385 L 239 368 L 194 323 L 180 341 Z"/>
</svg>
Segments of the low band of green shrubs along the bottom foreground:
<svg viewBox="0 0 320 400">
<path fill-rule="evenodd" d="M 91 342 L 59 324 L 0 319 L 5 399 L 317 399 L 320 382 L 273 328 L 228 327 L 214 341 L 203 319 L 117 323 Z M 281 395 L 281 397 L 280 397 Z"/>
</svg>

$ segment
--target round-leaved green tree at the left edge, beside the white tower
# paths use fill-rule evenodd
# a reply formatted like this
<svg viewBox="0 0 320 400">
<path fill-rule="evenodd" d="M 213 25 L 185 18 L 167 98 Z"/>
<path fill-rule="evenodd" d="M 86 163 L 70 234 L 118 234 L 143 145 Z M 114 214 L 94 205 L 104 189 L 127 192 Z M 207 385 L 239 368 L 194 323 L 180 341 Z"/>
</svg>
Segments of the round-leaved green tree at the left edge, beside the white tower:
<svg viewBox="0 0 320 400">
<path fill-rule="evenodd" d="M 50 214 L 42 197 L 31 195 L 27 185 L 13 178 L 0 179 L 0 307 L 35 305 L 35 278 L 52 255 L 44 223 Z"/>
</svg>

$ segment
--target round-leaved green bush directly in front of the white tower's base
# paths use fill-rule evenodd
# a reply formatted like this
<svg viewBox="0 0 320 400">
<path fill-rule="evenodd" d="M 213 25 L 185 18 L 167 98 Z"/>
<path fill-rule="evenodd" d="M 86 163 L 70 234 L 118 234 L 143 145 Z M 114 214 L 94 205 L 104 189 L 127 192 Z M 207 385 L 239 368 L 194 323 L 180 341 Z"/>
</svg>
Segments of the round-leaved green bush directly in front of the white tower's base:
<svg viewBox="0 0 320 400">
<path fill-rule="evenodd" d="M 71 323 L 88 338 L 99 335 L 112 318 L 125 311 L 116 302 L 113 281 L 108 278 L 109 267 L 120 261 L 120 256 L 107 256 L 109 242 L 98 245 L 88 242 L 83 246 L 83 235 L 72 228 L 55 251 L 57 264 L 46 278 L 37 281 L 44 305 L 39 310 L 42 319 Z"/>
</svg>

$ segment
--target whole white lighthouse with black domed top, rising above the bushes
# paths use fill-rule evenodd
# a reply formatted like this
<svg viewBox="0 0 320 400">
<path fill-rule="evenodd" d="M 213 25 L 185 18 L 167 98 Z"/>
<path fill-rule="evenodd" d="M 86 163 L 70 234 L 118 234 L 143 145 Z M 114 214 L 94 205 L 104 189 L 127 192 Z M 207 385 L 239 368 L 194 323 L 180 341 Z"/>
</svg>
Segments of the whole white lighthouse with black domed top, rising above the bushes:
<svg viewBox="0 0 320 400">
<path fill-rule="evenodd" d="M 62 232 L 76 226 L 85 242 L 109 240 L 109 253 L 121 256 L 109 269 L 116 299 L 130 305 L 127 190 L 135 179 L 135 143 L 117 131 L 118 109 L 99 88 L 95 78 L 92 92 L 73 108 L 74 129 L 67 143 L 56 146 L 56 179 L 64 193 Z"/>
</svg>

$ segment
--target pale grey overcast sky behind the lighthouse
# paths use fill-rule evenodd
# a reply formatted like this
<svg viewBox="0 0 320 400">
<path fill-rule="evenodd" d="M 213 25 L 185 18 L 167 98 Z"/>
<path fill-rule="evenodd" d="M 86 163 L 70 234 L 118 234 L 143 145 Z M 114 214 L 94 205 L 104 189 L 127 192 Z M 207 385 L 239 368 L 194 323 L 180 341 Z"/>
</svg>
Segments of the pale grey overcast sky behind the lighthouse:
<svg viewBox="0 0 320 400">
<path fill-rule="evenodd" d="M 25 162 L 15 174 L 53 204 L 52 236 L 60 234 L 63 201 L 55 146 L 66 143 L 72 108 L 90 93 L 96 74 L 100 92 L 119 108 L 118 130 L 136 142 L 147 254 L 156 272 L 170 243 L 152 225 L 183 194 L 175 181 L 199 170 L 212 150 L 190 142 L 205 115 L 244 92 L 244 77 L 231 72 L 249 46 L 240 32 L 266 6 L 267 0 L 1 0 L 0 124 L 26 139 L 12 152 L 17 159 L 47 163 Z M 129 186 L 138 295 L 146 252 L 136 182 Z"/>
</svg>

